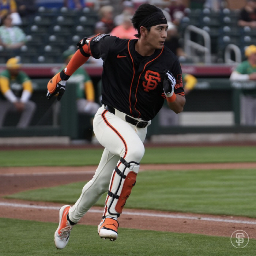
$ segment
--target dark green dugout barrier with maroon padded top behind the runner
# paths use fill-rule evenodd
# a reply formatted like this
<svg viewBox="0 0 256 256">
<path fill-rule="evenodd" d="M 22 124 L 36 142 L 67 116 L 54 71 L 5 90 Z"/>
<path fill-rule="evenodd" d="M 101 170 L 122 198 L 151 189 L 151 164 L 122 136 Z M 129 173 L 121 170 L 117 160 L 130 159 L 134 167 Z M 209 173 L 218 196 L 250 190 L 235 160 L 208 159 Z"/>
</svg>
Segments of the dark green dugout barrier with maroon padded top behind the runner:
<svg viewBox="0 0 256 256">
<path fill-rule="evenodd" d="M 101 68 L 84 65 L 92 77 L 96 94 Z M 0 66 L 0 69 L 3 68 Z M 90 140 L 92 135 L 91 117 L 76 112 L 75 86 L 68 86 L 61 100 L 61 113 L 54 115 L 56 100 L 46 99 L 46 85 L 58 65 L 24 65 L 33 80 L 32 100 L 37 103 L 37 111 L 27 129 L 17 129 L 18 114 L 7 118 L 0 129 L 1 137 L 13 136 L 68 136 L 71 139 Z M 184 112 L 179 114 L 179 124 L 161 125 L 159 115 L 148 127 L 148 136 L 188 133 L 254 133 L 255 127 L 242 125 L 240 118 L 241 89 L 255 89 L 256 83 L 230 82 L 232 65 L 184 65 L 182 71 L 197 77 L 198 83 L 186 97 Z M 216 78 L 215 74 L 218 74 Z M 35 78 L 40 77 L 40 78 Z M 98 96 L 98 95 L 97 95 Z M 98 97 L 96 97 L 97 99 Z"/>
</svg>

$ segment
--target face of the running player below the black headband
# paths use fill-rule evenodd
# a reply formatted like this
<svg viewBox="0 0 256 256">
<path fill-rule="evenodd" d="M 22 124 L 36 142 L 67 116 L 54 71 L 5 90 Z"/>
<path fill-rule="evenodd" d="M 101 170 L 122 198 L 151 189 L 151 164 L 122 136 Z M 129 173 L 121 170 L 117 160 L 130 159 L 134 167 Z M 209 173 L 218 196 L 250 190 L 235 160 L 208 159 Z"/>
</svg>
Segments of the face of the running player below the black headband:
<svg viewBox="0 0 256 256">
<path fill-rule="evenodd" d="M 167 24 L 161 24 L 150 28 L 147 42 L 153 49 L 162 49 L 167 37 Z"/>
</svg>

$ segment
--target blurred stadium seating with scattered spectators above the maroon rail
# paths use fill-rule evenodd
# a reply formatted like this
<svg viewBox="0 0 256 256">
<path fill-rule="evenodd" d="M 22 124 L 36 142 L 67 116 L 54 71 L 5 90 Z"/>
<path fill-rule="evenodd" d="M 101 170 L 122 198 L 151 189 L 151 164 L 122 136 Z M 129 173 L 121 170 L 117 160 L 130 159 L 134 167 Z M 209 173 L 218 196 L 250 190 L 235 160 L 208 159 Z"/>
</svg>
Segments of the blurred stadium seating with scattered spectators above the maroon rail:
<svg viewBox="0 0 256 256">
<path fill-rule="evenodd" d="M 1 0 L 0 61 L 20 56 L 22 63 L 61 63 L 61 53 L 83 37 L 135 38 L 130 18 L 145 2 L 163 10 L 166 46 L 181 62 L 237 61 L 256 37 L 254 0 L 244 0 L 242 8 L 241 1 L 227 0 Z M 225 59 L 227 45 L 234 53 Z"/>
</svg>

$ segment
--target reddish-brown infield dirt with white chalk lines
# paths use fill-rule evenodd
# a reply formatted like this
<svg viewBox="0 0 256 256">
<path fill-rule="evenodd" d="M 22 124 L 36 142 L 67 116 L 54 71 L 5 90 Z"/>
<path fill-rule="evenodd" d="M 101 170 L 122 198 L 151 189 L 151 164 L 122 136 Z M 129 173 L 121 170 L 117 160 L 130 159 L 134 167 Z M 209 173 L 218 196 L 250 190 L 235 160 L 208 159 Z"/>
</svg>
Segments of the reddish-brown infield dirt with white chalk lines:
<svg viewBox="0 0 256 256">
<path fill-rule="evenodd" d="M 93 177 L 95 168 L 95 166 L 0 168 L 0 217 L 58 222 L 58 209 L 62 206 L 61 204 L 4 199 L 3 196 L 28 189 L 89 180 Z M 207 170 L 239 168 L 256 169 L 256 163 L 142 165 L 141 171 L 146 169 Z M 102 210 L 102 207 L 92 207 L 80 223 L 98 225 Z M 256 219 L 245 217 L 125 209 L 119 218 L 119 223 L 121 227 L 135 229 L 227 237 L 230 237 L 236 230 L 244 230 L 248 233 L 249 238 L 256 239 Z"/>
</svg>

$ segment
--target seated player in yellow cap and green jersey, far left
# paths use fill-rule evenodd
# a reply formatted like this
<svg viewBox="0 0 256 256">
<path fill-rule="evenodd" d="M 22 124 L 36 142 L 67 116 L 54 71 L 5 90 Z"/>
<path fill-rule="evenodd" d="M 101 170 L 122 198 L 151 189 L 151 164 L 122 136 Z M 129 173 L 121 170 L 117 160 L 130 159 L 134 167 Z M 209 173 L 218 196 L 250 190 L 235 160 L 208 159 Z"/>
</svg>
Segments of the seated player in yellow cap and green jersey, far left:
<svg viewBox="0 0 256 256">
<path fill-rule="evenodd" d="M 11 58 L 0 73 L 0 127 L 8 112 L 20 112 L 17 127 L 25 128 L 35 112 L 36 105 L 29 100 L 33 92 L 32 82 L 20 67 L 19 59 Z"/>
</svg>

